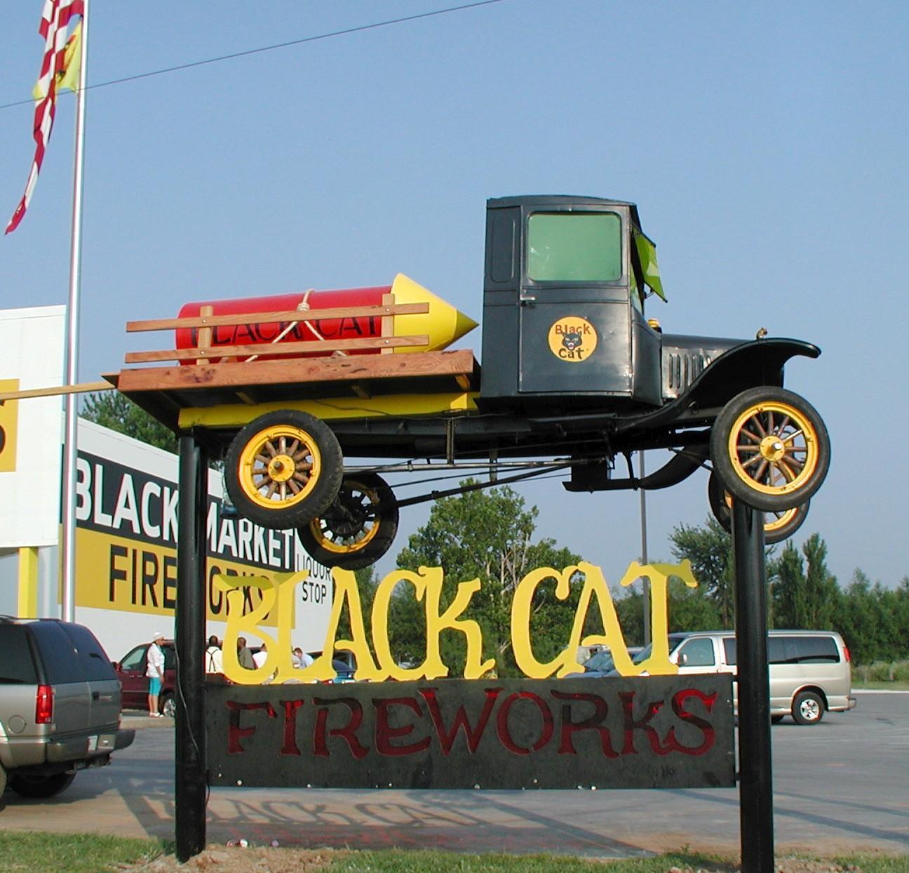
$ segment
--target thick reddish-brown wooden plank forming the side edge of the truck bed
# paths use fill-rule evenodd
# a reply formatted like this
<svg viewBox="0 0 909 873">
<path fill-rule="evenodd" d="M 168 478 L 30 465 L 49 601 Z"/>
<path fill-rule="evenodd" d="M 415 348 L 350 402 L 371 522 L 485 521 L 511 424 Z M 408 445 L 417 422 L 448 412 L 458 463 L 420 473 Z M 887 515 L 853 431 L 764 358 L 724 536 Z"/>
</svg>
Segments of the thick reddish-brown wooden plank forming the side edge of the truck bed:
<svg viewBox="0 0 909 873">
<path fill-rule="evenodd" d="M 117 386 L 126 395 L 187 388 L 243 388 L 304 382 L 363 382 L 407 376 L 458 376 L 474 372 L 470 349 L 417 352 L 411 355 L 304 357 L 291 361 L 255 361 L 243 366 L 163 366 L 121 370 Z"/>
</svg>

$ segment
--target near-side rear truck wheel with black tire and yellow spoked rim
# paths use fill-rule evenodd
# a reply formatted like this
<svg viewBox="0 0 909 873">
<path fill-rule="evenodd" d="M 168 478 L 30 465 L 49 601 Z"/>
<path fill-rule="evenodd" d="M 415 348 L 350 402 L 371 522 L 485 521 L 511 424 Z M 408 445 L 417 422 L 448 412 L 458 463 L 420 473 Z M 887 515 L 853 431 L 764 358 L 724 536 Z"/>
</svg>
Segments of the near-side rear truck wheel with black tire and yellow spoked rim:
<svg viewBox="0 0 909 873">
<path fill-rule="evenodd" d="M 293 461 L 293 473 L 288 472 L 286 462 L 275 469 L 271 464 L 263 466 L 265 455 L 259 449 L 271 455 L 273 462 L 279 458 Z M 285 454 L 288 451 L 290 456 Z M 240 515 L 257 525 L 275 530 L 300 527 L 325 512 L 337 497 L 343 462 L 337 437 L 325 422 L 295 409 L 279 409 L 259 416 L 234 437 L 225 459 L 227 494 Z M 302 487 L 297 485 L 298 477 L 308 473 L 312 475 Z M 279 494 L 275 500 L 269 496 L 269 488 L 280 489 L 284 496 Z"/>
</svg>

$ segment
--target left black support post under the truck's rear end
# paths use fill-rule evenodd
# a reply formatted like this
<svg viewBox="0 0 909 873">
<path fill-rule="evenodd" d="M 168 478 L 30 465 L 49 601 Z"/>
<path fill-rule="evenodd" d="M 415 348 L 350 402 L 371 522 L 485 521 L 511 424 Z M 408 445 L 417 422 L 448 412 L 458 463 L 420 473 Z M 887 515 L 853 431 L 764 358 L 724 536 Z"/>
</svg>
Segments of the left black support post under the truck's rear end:
<svg viewBox="0 0 909 873">
<path fill-rule="evenodd" d="M 176 547 L 176 857 L 205 848 L 205 514 L 208 463 L 194 437 L 180 437 Z"/>
</svg>

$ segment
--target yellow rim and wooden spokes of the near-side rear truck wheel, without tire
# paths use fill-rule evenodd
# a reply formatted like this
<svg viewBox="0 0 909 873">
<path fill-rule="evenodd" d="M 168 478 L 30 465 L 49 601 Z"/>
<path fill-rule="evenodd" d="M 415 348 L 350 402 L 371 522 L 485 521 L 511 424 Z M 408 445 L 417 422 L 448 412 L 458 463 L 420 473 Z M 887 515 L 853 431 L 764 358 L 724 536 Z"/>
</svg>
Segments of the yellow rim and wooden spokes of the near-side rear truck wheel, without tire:
<svg viewBox="0 0 909 873">
<path fill-rule="evenodd" d="M 294 486 L 297 473 L 305 473 L 305 481 Z M 246 497 L 265 509 L 292 507 L 305 500 L 321 473 L 322 453 L 315 439 L 292 425 L 260 430 L 240 454 L 240 487 Z"/>
</svg>

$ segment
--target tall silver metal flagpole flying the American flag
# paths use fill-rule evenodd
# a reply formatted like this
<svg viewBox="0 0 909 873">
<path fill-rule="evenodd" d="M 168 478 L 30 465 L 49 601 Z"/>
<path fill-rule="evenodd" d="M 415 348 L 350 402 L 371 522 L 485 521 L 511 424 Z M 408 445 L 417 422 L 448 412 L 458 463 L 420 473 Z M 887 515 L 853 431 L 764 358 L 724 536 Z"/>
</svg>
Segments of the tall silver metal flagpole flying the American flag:
<svg viewBox="0 0 909 873">
<path fill-rule="evenodd" d="M 88 0 L 83 0 L 79 89 L 75 93 L 75 168 L 73 229 L 69 249 L 69 300 L 66 306 L 66 385 L 79 381 L 79 284 L 82 273 L 82 178 L 85 163 L 85 83 L 88 70 Z M 66 396 L 63 464 L 63 596 L 61 618 L 75 621 L 75 459 L 77 395 Z"/>
</svg>

